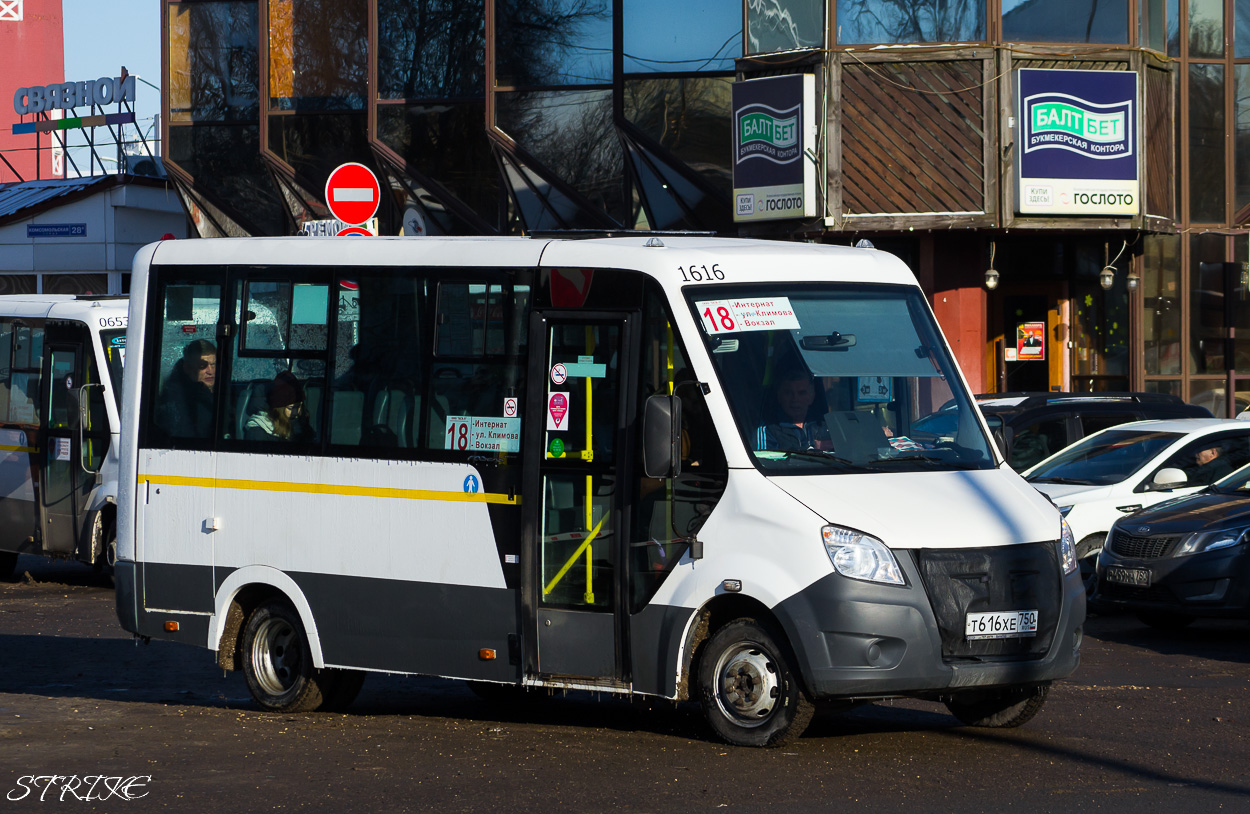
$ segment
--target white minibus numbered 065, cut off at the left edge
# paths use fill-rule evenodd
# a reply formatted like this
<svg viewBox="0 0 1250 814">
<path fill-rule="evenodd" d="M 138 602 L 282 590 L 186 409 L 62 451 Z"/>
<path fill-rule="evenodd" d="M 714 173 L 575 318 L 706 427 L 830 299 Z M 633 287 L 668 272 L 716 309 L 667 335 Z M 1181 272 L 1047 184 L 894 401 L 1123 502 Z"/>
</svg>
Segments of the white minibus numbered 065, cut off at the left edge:
<svg viewBox="0 0 1250 814">
<path fill-rule="evenodd" d="M 0 296 L 0 579 L 19 554 L 112 564 L 126 308 Z"/>
</svg>

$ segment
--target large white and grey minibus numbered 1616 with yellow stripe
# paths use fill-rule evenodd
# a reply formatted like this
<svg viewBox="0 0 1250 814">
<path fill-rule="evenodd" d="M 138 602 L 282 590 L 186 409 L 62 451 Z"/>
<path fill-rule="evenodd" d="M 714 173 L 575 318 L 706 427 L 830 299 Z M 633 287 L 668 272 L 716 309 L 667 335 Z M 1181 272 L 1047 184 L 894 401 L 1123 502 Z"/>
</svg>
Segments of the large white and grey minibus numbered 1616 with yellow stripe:
<svg viewBox="0 0 1250 814">
<path fill-rule="evenodd" d="M 775 745 L 821 701 L 1019 725 L 1079 663 L 1071 536 L 889 254 L 219 239 L 131 280 L 118 614 L 264 709 L 422 674 Z"/>
</svg>

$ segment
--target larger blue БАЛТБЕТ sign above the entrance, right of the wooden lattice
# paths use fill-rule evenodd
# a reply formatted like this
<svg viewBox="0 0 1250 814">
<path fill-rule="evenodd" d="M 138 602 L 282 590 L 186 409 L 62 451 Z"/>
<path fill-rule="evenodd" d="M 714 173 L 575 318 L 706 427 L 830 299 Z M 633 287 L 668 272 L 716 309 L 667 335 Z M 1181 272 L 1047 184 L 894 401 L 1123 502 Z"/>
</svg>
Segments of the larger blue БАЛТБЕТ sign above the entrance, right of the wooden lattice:
<svg viewBox="0 0 1250 814">
<path fill-rule="evenodd" d="M 1016 71 L 1016 211 L 1141 211 L 1135 71 Z"/>
</svg>

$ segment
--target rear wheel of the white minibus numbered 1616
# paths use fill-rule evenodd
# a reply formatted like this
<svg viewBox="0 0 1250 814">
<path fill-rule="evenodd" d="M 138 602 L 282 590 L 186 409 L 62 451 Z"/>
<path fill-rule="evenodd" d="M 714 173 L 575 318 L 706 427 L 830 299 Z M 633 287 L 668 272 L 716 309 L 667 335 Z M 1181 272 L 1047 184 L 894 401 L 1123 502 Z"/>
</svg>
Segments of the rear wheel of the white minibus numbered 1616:
<svg viewBox="0 0 1250 814">
<path fill-rule="evenodd" d="M 274 713 L 320 709 L 338 683 L 334 670 L 312 666 L 300 615 L 281 599 L 264 603 L 248 616 L 242 674 L 256 703 Z"/>
</svg>

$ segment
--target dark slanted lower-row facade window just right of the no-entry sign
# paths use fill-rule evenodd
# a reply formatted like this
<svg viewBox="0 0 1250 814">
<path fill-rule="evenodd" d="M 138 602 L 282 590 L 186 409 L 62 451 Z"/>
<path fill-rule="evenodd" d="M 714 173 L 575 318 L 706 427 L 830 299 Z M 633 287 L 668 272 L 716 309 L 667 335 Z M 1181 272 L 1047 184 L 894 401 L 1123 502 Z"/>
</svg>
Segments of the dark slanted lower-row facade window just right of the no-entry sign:
<svg viewBox="0 0 1250 814">
<path fill-rule="evenodd" d="M 379 106 L 378 138 L 488 224 L 499 223 L 499 169 L 482 101 Z"/>
</svg>

